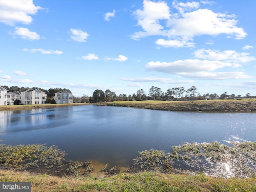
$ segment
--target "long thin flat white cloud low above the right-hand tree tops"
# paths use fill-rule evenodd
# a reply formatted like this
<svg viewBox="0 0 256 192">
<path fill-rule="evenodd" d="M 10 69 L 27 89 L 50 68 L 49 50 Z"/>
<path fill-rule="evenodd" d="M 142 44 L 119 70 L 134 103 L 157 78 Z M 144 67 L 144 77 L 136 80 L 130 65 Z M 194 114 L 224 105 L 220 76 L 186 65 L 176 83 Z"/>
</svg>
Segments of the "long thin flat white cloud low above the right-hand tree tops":
<svg viewBox="0 0 256 192">
<path fill-rule="evenodd" d="M 123 81 L 132 81 L 132 82 L 161 82 L 164 84 L 182 84 L 182 83 L 191 83 L 193 80 L 180 80 L 176 81 L 172 78 L 159 78 L 159 77 L 146 77 L 146 78 L 121 78 Z"/>
</svg>

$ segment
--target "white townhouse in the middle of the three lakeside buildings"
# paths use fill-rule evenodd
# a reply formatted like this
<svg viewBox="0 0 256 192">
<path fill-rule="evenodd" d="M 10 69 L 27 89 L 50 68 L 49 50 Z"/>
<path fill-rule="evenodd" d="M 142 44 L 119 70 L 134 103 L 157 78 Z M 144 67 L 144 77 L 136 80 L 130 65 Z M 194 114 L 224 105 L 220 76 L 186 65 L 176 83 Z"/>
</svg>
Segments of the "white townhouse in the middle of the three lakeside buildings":
<svg viewBox="0 0 256 192">
<path fill-rule="evenodd" d="M 19 96 L 21 104 L 46 104 L 47 95 L 39 89 L 22 91 Z"/>
</svg>

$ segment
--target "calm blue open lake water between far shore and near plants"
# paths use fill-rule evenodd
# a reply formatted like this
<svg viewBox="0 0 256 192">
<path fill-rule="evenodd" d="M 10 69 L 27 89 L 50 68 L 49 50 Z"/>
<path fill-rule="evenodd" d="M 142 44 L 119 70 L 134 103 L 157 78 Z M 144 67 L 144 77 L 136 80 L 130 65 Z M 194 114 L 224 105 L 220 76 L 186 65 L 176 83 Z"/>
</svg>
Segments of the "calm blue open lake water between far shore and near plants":
<svg viewBox="0 0 256 192">
<path fill-rule="evenodd" d="M 184 142 L 256 140 L 256 113 L 72 106 L 0 112 L 2 144 L 56 145 L 66 160 L 129 166 L 138 151 Z"/>
</svg>

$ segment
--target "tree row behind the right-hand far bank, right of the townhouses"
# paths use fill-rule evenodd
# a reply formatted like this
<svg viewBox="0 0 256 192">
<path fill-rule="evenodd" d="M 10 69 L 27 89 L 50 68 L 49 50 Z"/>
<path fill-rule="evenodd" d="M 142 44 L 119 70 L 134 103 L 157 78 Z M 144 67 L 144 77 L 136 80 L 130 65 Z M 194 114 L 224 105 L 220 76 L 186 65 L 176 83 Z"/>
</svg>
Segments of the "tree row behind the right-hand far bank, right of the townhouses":
<svg viewBox="0 0 256 192">
<path fill-rule="evenodd" d="M 92 97 L 89 98 L 89 102 L 111 102 L 111 101 L 142 101 L 142 100 L 204 100 L 208 96 L 208 99 L 225 99 L 225 98 L 243 98 L 241 95 L 231 94 L 228 95 L 226 92 L 218 96 L 218 94 L 201 94 L 198 92 L 195 86 L 188 88 L 184 87 L 169 88 L 166 92 L 163 92 L 161 88 L 152 86 L 148 90 L 148 94 L 143 89 L 139 89 L 134 94 L 119 94 L 116 95 L 115 92 L 107 89 L 105 92 L 103 90 L 95 90 Z M 246 94 L 246 98 L 251 97 L 250 93 Z M 255 96 L 254 96 L 255 97 Z"/>
</svg>

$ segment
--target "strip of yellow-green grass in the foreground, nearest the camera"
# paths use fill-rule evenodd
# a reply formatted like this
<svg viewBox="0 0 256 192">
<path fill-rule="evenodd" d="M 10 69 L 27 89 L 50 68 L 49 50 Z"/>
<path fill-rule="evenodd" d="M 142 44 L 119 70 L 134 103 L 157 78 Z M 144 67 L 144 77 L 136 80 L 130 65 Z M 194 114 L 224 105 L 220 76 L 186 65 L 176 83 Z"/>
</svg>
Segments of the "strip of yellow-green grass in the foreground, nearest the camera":
<svg viewBox="0 0 256 192">
<path fill-rule="evenodd" d="M 0 170 L 2 182 L 32 182 L 32 192 L 250 192 L 256 191 L 256 178 L 214 178 L 204 174 L 120 173 L 106 178 L 93 176 L 58 178 L 46 174 Z"/>
</svg>

